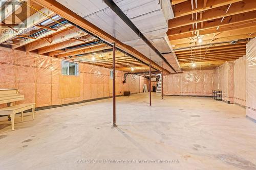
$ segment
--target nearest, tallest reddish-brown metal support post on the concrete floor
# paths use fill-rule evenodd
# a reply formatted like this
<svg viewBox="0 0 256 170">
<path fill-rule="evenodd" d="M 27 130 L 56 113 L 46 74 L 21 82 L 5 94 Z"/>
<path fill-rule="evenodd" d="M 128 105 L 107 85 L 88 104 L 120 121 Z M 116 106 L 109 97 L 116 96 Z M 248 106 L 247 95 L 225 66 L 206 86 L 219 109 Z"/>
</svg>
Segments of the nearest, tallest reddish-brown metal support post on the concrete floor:
<svg viewBox="0 0 256 170">
<path fill-rule="evenodd" d="M 116 45 L 113 43 L 113 127 L 116 127 Z"/>
</svg>

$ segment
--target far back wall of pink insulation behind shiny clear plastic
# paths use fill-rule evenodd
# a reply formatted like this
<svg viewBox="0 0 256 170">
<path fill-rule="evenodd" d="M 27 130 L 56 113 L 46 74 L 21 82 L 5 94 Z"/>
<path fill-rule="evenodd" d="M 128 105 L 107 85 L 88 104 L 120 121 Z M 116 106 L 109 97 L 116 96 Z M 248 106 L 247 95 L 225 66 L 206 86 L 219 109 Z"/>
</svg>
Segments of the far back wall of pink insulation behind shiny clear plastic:
<svg viewBox="0 0 256 170">
<path fill-rule="evenodd" d="M 191 70 L 164 75 L 165 95 L 212 95 L 214 70 Z"/>
</svg>

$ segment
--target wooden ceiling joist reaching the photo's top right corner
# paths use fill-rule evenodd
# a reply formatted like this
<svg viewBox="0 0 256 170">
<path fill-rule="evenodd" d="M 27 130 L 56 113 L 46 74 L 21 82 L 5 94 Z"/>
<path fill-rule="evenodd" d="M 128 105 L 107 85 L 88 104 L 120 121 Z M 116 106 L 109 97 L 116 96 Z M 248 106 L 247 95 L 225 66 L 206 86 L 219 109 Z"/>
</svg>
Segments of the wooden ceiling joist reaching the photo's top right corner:
<svg viewBox="0 0 256 170">
<path fill-rule="evenodd" d="M 193 20 L 191 15 L 186 15 L 174 19 L 168 20 L 169 29 L 178 28 L 182 26 L 191 25 L 193 23 L 198 23 L 201 21 L 212 20 L 216 18 L 222 18 L 223 16 L 236 15 L 244 12 L 249 12 L 256 10 L 255 0 L 243 0 L 242 2 L 234 3 L 226 13 L 229 5 L 206 10 L 203 13 L 203 18 L 201 20 Z"/>
</svg>

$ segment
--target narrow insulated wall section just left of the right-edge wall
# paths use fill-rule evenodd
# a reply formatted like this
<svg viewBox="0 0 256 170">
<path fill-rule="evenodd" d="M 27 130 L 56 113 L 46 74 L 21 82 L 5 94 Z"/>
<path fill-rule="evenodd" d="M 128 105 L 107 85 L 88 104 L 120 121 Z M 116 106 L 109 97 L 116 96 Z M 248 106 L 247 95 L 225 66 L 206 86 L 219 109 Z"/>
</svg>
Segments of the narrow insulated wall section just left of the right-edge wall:
<svg viewBox="0 0 256 170">
<path fill-rule="evenodd" d="M 246 56 L 234 61 L 234 103 L 246 106 Z"/>
</svg>

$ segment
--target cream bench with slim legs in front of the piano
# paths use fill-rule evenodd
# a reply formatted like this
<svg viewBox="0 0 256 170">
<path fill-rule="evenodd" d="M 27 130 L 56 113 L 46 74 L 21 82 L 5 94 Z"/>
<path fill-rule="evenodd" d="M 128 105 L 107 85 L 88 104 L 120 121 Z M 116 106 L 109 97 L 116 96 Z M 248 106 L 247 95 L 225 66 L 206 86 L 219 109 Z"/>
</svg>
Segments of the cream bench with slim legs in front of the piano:
<svg viewBox="0 0 256 170">
<path fill-rule="evenodd" d="M 35 119 L 35 104 L 34 103 L 26 103 L 19 104 L 10 107 L 5 107 L 0 109 L 0 115 L 10 115 L 11 116 L 11 124 L 12 130 L 14 130 L 14 119 L 16 113 L 22 113 L 22 121 L 23 121 L 23 112 L 26 110 L 32 109 L 33 120 Z"/>
</svg>

